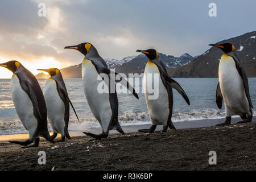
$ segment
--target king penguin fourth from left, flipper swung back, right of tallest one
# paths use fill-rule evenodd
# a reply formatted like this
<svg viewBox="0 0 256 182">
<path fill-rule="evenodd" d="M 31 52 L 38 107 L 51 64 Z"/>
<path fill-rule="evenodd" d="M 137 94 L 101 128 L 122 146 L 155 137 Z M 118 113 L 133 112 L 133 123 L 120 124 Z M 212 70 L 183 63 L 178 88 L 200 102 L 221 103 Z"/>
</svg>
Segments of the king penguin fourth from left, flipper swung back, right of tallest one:
<svg viewBox="0 0 256 182">
<path fill-rule="evenodd" d="M 143 88 L 151 120 L 150 129 L 142 129 L 139 131 L 152 133 L 156 125 L 163 125 L 162 132 L 166 132 L 168 127 L 170 127 L 171 130 L 176 130 L 171 120 L 173 106 L 172 88 L 176 89 L 187 104 L 190 105 L 187 94 L 185 94 L 184 90 L 175 80 L 168 76 L 166 67 L 164 67 L 155 49 L 147 49 L 145 51 L 137 50 L 137 52 L 144 53 L 149 59 L 144 69 Z M 157 80 L 155 80 L 155 77 Z M 155 92 L 158 93 L 158 97 L 150 98 L 152 88 L 148 88 L 148 85 L 158 85 L 158 88 L 154 88 L 154 90 L 158 90 L 158 92 Z"/>
</svg>

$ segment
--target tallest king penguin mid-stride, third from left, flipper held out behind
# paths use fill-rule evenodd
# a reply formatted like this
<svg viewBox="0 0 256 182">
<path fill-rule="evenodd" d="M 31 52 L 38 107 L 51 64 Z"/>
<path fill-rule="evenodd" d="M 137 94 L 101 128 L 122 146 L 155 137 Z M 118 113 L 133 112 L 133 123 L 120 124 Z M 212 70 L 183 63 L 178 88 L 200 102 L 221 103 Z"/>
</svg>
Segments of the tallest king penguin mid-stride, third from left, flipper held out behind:
<svg viewBox="0 0 256 182">
<path fill-rule="evenodd" d="M 100 135 L 86 132 L 84 132 L 84 134 L 95 139 L 107 138 L 109 130 L 113 129 L 121 134 L 125 134 L 118 122 L 118 99 L 115 90 L 115 82 L 119 82 L 123 86 L 126 86 L 136 98 L 139 98 L 133 87 L 125 80 L 125 78 L 121 77 L 120 81 L 115 79 L 115 76 L 120 75 L 110 71 L 108 65 L 105 63 L 104 59 L 101 58 L 97 49 L 92 44 L 81 43 L 77 46 L 67 46 L 65 48 L 76 49 L 85 56 L 82 61 L 84 93 L 90 110 L 102 127 L 102 133 Z M 104 80 L 108 86 L 108 93 L 101 93 L 98 91 L 98 85 L 102 80 Z"/>
</svg>

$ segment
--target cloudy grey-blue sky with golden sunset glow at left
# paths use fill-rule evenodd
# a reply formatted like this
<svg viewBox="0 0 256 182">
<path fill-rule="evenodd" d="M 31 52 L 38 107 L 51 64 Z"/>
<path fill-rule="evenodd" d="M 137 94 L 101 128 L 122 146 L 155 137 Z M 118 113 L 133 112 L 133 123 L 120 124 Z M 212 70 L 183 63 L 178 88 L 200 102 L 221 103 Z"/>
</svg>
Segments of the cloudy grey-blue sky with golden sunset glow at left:
<svg viewBox="0 0 256 182">
<path fill-rule="evenodd" d="M 209 3 L 217 17 L 208 15 Z M 45 3 L 46 16 L 38 16 Z M 83 56 L 63 49 L 90 42 L 103 58 L 138 55 L 155 48 L 167 55 L 192 56 L 209 43 L 256 30 L 256 1 L 150 0 L 1 0 L 0 62 L 19 60 L 32 73 L 36 68 L 64 68 Z M 0 68 L 0 78 L 11 72 Z"/>
</svg>

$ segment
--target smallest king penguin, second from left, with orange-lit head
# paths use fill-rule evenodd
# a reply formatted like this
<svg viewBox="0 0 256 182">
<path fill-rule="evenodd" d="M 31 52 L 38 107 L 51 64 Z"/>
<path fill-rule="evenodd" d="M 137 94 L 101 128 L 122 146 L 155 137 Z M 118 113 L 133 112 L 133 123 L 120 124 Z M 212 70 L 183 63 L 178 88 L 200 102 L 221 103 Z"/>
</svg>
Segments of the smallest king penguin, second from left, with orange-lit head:
<svg viewBox="0 0 256 182">
<path fill-rule="evenodd" d="M 44 98 L 46 99 L 47 115 L 53 129 L 53 135 L 51 138 L 55 139 L 57 134 L 60 133 L 62 142 L 65 141 L 65 137 L 71 139 L 68 133 L 69 103 L 71 104 L 75 114 L 76 110 L 73 107 L 71 100 L 69 100 L 61 72 L 57 68 L 38 70 L 47 72 L 51 76 L 46 81 L 43 89 Z M 78 117 L 77 119 L 79 120 Z"/>
</svg>

